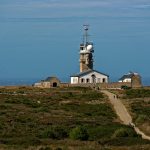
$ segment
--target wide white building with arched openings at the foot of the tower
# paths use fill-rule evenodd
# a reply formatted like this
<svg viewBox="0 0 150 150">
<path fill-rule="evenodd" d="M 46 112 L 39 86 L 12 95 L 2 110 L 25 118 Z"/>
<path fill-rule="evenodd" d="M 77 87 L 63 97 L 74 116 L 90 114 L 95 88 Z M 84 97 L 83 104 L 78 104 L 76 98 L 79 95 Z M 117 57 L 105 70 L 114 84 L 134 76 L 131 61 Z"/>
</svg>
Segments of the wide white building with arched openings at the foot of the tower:
<svg viewBox="0 0 150 150">
<path fill-rule="evenodd" d="M 71 76 L 71 84 L 108 83 L 109 76 L 96 70 L 87 70 Z"/>
</svg>

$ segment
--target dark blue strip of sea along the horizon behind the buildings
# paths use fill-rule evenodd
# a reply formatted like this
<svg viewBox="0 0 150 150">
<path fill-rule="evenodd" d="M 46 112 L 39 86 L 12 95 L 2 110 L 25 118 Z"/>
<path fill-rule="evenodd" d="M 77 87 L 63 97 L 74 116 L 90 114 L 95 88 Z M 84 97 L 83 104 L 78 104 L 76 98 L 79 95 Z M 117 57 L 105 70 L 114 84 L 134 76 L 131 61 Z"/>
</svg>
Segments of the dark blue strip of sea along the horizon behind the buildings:
<svg viewBox="0 0 150 150">
<path fill-rule="evenodd" d="M 69 78 L 59 78 L 62 82 L 70 82 Z M 1 79 L 0 86 L 32 86 L 34 83 L 41 81 L 41 78 L 13 78 L 13 79 Z M 111 82 L 116 82 L 116 78 L 112 78 Z M 150 77 L 143 78 L 142 84 L 144 86 L 150 86 Z"/>
</svg>

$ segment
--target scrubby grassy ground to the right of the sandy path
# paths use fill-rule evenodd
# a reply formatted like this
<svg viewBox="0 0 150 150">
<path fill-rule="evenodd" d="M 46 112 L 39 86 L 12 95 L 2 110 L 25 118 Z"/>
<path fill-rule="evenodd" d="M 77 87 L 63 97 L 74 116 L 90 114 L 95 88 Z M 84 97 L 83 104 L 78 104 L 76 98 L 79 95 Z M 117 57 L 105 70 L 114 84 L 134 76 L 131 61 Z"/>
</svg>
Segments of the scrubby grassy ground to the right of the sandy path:
<svg viewBox="0 0 150 150">
<path fill-rule="evenodd" d="M 121 92 L 135 124 L 150 135 L 150 89 L 130 89 Z"/>
</svg>

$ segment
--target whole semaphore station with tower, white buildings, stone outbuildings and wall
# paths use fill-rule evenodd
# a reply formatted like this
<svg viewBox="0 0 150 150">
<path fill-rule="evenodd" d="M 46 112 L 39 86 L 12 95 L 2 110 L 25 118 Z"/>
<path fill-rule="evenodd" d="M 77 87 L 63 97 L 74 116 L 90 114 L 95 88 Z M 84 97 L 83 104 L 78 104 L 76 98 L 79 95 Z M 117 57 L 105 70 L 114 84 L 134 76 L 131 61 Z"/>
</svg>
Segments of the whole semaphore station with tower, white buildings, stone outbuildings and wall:
<svg viewBox="0 0 150 150">
<path fill-rule="evenodd" d="M 93 43 L 89 41 L 89 26 L 84 25 L 83 42 L 80 44 L 80 72 L 70 76 L 70 83 L 62 83 L 57 77 L 48 77 L 34 84 L 34 87 L 94 87 L 98 89 L 119 89 L 123 86 L 130 88 L 142 87 L 141 76 L 138 73 L 129 72 L 123 75 L 118 82 L 109 82 L 109 75 L 93 69 Z"/>
</svg>

